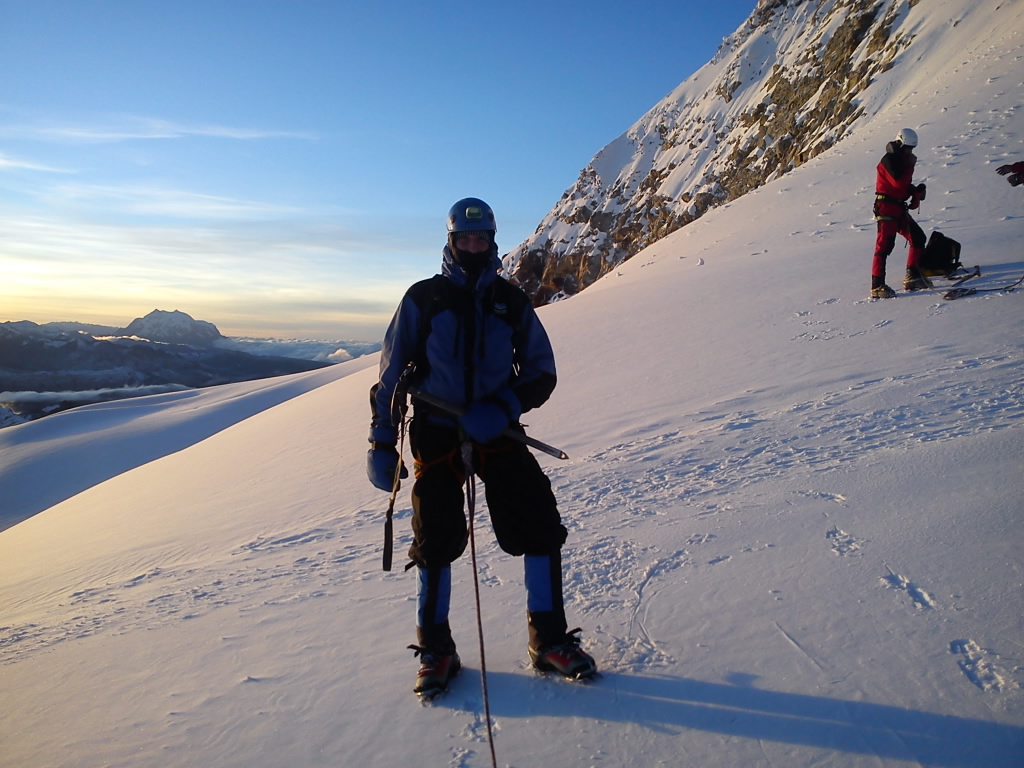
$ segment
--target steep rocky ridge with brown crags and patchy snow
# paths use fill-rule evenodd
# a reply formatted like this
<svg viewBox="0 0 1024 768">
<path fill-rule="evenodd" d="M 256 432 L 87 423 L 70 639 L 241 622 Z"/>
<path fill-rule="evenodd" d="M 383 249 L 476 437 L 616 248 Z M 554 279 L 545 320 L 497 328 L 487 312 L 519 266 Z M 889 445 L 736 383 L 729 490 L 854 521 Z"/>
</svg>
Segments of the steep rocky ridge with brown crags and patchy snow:
<svg viewBox="0 0 1024 768">
<path fill-rule="evenodd" d="M 1020 9 L 981 5 L 988 18 L 974 13 L 962 24 L 957 5 L 935 0 L 761 0 L 712 61 L 594 157 L 506 255 L 506 272 L 536 304 L 578 293 L 712 208 L 835 146 L 892 99 L 900 80 L 919 72 L 948 78 L 958 60 L 921 66 L 937 37 L 965 55 L 986 55 L 979 43 L 990 30 L 1012 33 Z M 996 77 L 1019 69 L 990 66 Z M 928 116 L 907 110 L 903 119 L 921 125 Z"/>
</svg>

